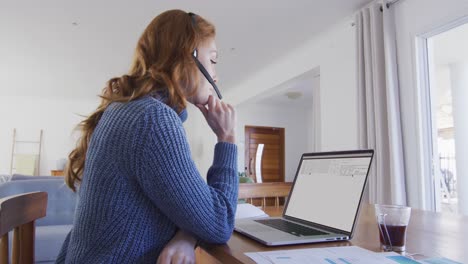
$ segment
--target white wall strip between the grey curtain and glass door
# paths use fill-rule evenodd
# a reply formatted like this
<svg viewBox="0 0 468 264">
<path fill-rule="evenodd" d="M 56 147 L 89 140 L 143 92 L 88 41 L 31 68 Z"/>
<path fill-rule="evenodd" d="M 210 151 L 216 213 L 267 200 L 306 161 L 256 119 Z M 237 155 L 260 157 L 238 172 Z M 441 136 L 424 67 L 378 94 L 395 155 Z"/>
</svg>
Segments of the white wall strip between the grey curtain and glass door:
<svg viewBox="0 0 468 264">
<path fill-rule="evenodd" d="M 465 0 L 404 0 L 395 8 L 400 77 L 400 99 L 403 122 L 404 155 L 408 202 L 417 208 L 430 208 L 427 201 L 427 182 L 431 172 L 425 170 L 422 160 L 425 150 L 422 142 L 422 122 L 419 83 L 416 79 L 416 37 L 468 15 Z M 421 187 L 426 186 L 426 187 Z"/>
</svg>

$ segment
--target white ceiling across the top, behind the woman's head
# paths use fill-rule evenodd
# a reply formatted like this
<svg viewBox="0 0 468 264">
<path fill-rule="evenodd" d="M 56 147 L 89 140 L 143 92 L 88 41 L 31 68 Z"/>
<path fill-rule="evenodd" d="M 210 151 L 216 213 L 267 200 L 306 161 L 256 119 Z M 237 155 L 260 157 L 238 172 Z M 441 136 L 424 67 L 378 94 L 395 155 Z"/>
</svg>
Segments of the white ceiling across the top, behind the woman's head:
<svg viewBox="0 0 468 264">
<path fill-rule="evenodd" d="M 145 26 L 180 8 L 217 27 L 222 90 L 369 0 L 41 0 L 0 3 L 0 95 L 90 98 L 124 74 Z"/>
</svg>

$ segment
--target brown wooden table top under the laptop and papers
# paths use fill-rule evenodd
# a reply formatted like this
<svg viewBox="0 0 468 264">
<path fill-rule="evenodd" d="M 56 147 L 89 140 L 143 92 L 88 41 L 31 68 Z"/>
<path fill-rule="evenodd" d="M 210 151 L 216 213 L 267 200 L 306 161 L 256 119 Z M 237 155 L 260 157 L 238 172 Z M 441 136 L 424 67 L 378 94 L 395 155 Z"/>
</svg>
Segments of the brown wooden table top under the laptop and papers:
<svg viewBox="0 0 468 264">
<path fill-rule="evenodd" d="M 265 212 L 271 216 L 278 216 L 281 215 L 282 208 L 266 208 Z M 351 241 L 266 247 L 234 232 L 227 244 L 204 245 L 203 250 L 222 263 L 254 263 L 244 253 L 255 251 L 355 245 L 378 252 L 381 251 L 378 232 L 373 206 L 365 205 Z M 468 263 L 466 242 L 468 242 L 468 217 L 412 210 L 406 241 L 407 253 L 430 257 L 443 256 Z"/>
</svg>

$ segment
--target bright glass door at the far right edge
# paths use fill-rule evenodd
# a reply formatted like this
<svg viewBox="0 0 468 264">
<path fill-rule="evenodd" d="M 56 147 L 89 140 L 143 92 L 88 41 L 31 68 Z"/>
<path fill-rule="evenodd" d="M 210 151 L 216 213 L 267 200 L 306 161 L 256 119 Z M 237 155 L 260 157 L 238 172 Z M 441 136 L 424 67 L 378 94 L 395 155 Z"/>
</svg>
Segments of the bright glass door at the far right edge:
<svg viewBox="0 0 468 264">
<path fill-rule="evenodd" d="M 468 24 L 427 38 L 437 211 L 468 214 Z M 457 161 L 459 161 L 457 163 Z M 461 200 L 460 200 L 461 199 Z"/>
</svg>

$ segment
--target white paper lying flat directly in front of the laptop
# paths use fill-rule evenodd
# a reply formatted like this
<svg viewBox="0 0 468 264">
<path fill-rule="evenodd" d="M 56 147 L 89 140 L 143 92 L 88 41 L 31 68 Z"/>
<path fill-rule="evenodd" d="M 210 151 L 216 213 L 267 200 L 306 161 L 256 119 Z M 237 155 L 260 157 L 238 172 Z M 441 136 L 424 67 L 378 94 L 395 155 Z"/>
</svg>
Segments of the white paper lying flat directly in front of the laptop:
<svg viewBox="0 0 468 264">
<path fill-rule="evenodd" d="M 245 253 L 249 258 L 259 264 L 397 264 L 418 263 L 400 262 L 372 251 L 356 247 L 326 247 L 293 250 L 277 250 L 266 252 Z"/>
</svg>

